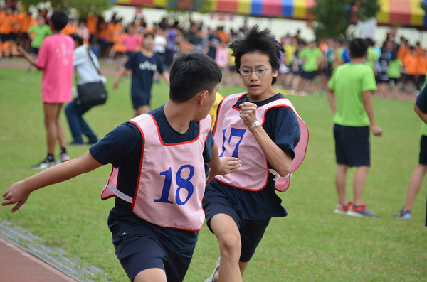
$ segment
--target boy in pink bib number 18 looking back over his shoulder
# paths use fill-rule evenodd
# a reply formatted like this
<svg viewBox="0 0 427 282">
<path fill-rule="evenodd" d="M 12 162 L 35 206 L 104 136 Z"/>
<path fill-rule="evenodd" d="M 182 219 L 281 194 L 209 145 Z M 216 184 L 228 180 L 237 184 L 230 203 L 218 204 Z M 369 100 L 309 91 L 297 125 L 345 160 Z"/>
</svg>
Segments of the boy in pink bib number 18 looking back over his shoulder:
<svg viewBox="0 0 427 282">
<path fill-rule="evenodd" d="M 117 197 L 108 217 L 108 227 L 112 232 L 117 259 L 130 281 L 183 281 L 199 229 L 204 223 L 201 197 L 206 183 L 215 175 L 237 170 L 241 162 L 233 157 L 219 158 L 218 147 L 211 134 L 211 117 L 208 114 L 222 78 L 215 61 L 201 53 L 180 53 L 176 55 L 170 73 L 169 100 L 166 104 L 117 126 L 91 146 L 82 157 L 60 163 L 11 185 L 3 193 L 4 201 L 1 205 L 16 204 L 12 208 L 12 212 L 16 212 L 31 192 L 111 163 L 118 170 L 117 190 L 120 193 L 116 191 Z M 142 120 L 151 121 L 147 121 L 149 127 L 142 124 Z M 158 134 L 144 135 L 142 128 L 158 131 Z M 199 136 L 206 138 L 199 140 Z M 153 141 L 159 139 L 162 143 L 153 145 Z M 194 156 L 191 153 L 182 156 L 179 148 L 174 148 L 186 143 L 194 146 Z M 172 151 L 179 157 L 159 161 L 165 151 Z M 142 158 L 143 153 L 154 158 Z M 199 159 L 209 166 L 207 179 L 204 164 L 194 161 Z M 178 170 L 176 163 L 178 166 L 188 164 Z M 169 167 L 169 176 L 164 171 L 165 167 Z M 144 179 L 148 177 L 150 181 L 162 184 L 147 185 Z M 142 181 L 139 181 L 141 178 Z M 180 190 L 188 193 L 181 195 Z M 140 192 L 146 193 L 144 200 L 154 203 L 156 207 L 150 210 L 144 205 L 137 205 L 137 195 Z M 154 199 L 148 195 L 154 195 Z M 196 195 L 196 205 L 186 205 L 186 202 L 194 203 Z M 196 210 L 202 215 L 198 229 L 191 228 L 194 220 L 190 218 L 181 219 L 179 223 L 184 224 L 182 228 L 155 224 L 147 217 L 138 216 L 134 212 L 132 201 L 123 200 L 126 197 L 130 197 L 135 205 L 148 213 L 153 213 L 153 210 L 166 211 L 173 217 L 174 212 L 181 214 L 183 210 Z M 162 219 L 170 222 L 169 217 Z"/>
</svg>

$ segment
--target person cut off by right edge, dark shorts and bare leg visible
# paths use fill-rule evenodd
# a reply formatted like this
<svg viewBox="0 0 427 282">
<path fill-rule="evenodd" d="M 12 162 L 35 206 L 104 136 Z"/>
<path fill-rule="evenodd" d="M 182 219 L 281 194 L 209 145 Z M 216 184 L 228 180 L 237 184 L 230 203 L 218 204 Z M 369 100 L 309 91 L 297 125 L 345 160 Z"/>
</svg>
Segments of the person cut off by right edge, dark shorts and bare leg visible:
<svg viewBox="0 0 427 282">
<path fill-rule="evenodd" d="M 427 89 L 426 82 L 423 85 L 423 90 L 416 97 L 414 110 L 423 121 L 421 124 L 421 142 L 420 142 L 420 156 L 418 166 L 413 170 L 411 180 L 408 184 L 408 192 L 406 194 L 406 203 L 404 208 L 398 212 L 394 217 L 399 219 L 411 219 L 411 210 L 413 202 L 415 202 L 418 192 L 423 185 L 423 179 L 427 174 Z M 426 227 L 427 227 L 427 214 L 426 214 Z"/>
</svg>

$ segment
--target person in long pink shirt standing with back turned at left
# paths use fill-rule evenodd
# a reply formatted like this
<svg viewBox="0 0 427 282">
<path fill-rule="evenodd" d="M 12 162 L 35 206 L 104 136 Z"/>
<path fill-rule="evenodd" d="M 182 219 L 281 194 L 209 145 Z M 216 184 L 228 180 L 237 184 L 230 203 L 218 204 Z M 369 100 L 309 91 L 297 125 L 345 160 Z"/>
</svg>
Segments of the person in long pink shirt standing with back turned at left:
<svg viewBox="0 0 427 282">
<path fill-rule="evenodd" d="M 19 47 L 19 53 L 34 65 L 43 70 L 41 81 L 41 99 L 43 102 L 44 120 L 46 127 L 46 143 L 48 156 L 40 163 L 30 166 L 33 169 L 44 169 L 70 160 L 65 150 L 65 133 L 60 124 L 59 115 L 65 102 L 71 101 L 71 87 L 73 82 L 73 50 L 74 41 L 70 36 L 60 31 L 67 25 L 68 15 L 63 10 L 56 10 L 51 16 L 50 26 L 52 36 L 46 38 L 38 51 L 36 61 Z M 55 161 L 55 143 L 58 140 L 60 154 Z"/>
</svg>

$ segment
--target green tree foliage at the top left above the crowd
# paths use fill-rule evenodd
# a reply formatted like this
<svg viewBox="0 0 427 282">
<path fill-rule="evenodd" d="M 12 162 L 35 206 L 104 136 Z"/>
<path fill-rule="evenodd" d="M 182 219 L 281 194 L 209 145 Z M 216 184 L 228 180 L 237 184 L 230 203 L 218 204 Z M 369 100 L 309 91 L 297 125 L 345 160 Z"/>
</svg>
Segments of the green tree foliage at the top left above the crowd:
<svg viewBox="0 0 427 282">
<path fill-rule="evenodd" d="M 46 0 L 21 0 L 26 6 L 37 6 Z M 110 0 L 50 0 L 53 8 L 65 9 L 71 13 L 77 13 L 80 18 L 85 18 L 89 13 L 101 16 L 111 9 L 114 3 Z"/>
</svg>

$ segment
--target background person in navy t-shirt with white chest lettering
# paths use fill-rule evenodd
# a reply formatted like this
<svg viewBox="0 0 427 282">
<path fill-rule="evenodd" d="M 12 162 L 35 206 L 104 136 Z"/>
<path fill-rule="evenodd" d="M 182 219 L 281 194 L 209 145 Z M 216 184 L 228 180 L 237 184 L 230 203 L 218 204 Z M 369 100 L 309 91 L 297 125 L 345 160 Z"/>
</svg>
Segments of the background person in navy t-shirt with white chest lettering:
<svg viewBox="0 0 427 282">
<path fill-rule="evenodd" d="M 169 75 L 163 70 L 163 61 L 159 54 L 154 53 L 154 33 L 144 35 L 143 48 L 140 52 L 130 55 L 125 66 L 119 71 L 112 88 L 117 89 L 122 76 L 127 70 L 132 70 L 131 97 L 134 117 L 149 112 L 149 100 L 154 72 L 159 72 L 159 77 L 164 78 L 169 84 Z"/>
</svg>

